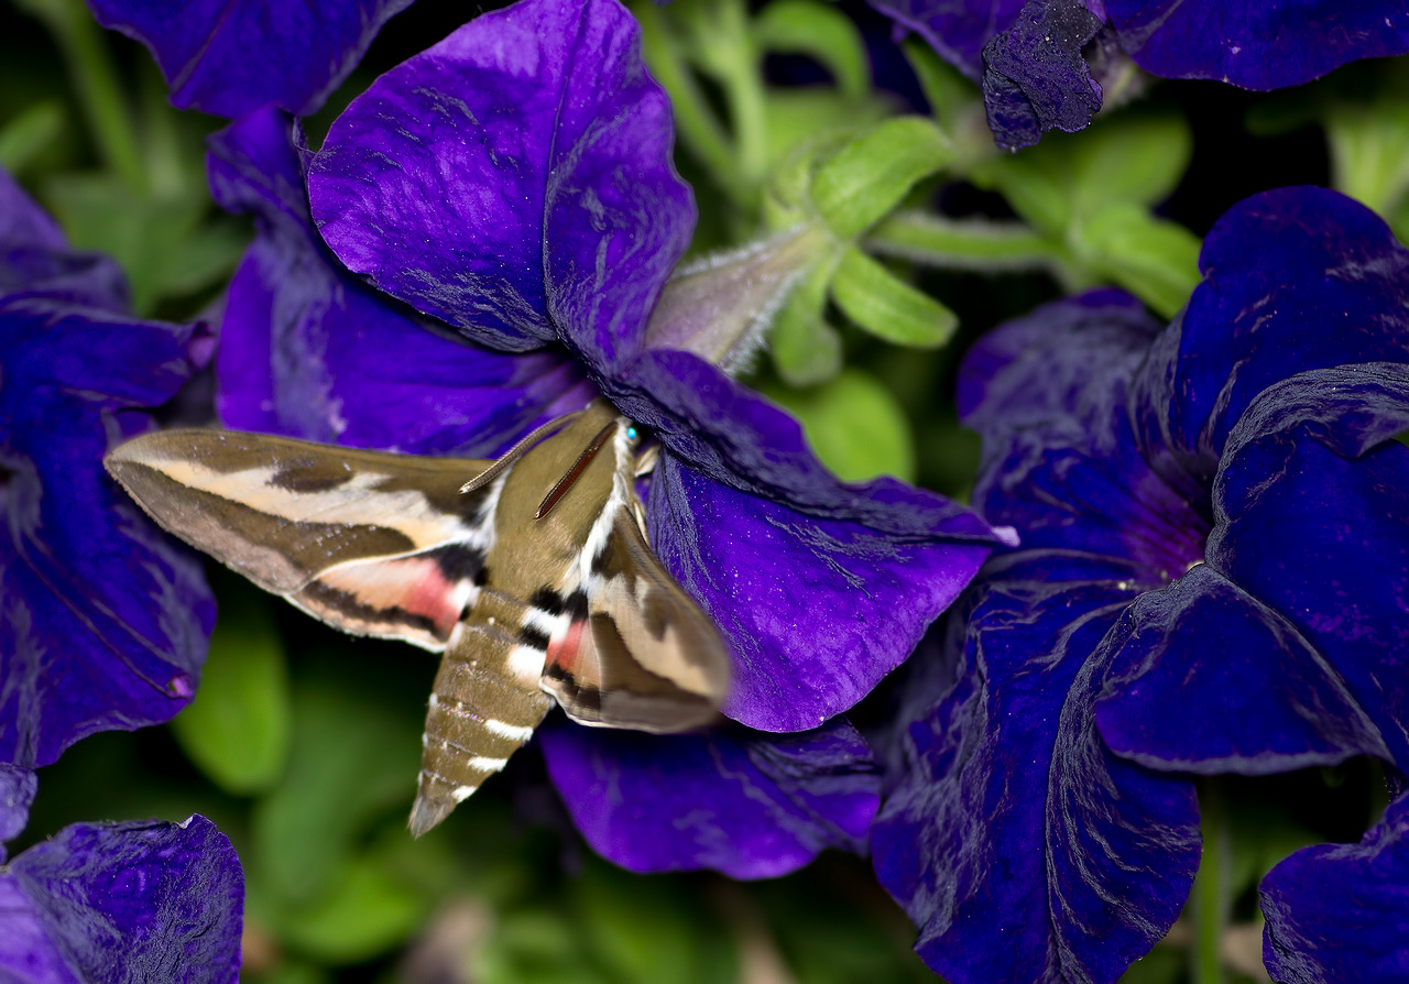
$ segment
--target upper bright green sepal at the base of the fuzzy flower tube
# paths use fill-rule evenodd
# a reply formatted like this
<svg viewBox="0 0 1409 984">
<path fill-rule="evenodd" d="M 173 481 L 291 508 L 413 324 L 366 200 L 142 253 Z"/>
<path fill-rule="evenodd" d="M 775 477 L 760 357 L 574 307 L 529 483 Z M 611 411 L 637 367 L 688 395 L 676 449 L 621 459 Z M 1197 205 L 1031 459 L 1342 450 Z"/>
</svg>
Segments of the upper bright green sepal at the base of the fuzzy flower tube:
<svg viewBox="0 0 1409 984">
<path fill-rule="evenodd" d="M 812 200 L 831 231 L 851 240 L 952 159 L 948 137 L 929 117 L 886 120 L 817 171 Z"/>
</svg>

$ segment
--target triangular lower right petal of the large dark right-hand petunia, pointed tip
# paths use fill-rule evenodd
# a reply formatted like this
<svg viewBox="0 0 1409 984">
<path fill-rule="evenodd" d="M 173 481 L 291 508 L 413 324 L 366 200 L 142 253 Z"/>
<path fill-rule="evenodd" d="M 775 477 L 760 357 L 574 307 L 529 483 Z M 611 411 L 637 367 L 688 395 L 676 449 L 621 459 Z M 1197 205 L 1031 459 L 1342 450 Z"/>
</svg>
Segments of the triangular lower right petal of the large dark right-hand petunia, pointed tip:
<svg viewBox="0 0 1409 984">
<path fill-rule="evenodd" d="M 1137 598 L 1107 644 L 1096 723 L 1112 751 L 1143 765 L 1270 775 L 1389 758 L 1324 657 L 1208 564 Z"/>
</svg>

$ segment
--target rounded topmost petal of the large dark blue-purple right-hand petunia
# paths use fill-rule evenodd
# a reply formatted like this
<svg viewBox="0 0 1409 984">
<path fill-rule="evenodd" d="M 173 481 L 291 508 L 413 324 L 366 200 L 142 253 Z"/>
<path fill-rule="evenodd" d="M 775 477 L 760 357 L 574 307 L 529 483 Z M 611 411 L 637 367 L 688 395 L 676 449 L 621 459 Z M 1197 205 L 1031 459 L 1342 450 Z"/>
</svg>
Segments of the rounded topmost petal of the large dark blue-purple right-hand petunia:
<svg viewBox="0 0 1409 984">
<path fill-rule="evenodd" d="M 1409 250 L 1370 209 L 1322 187 L 1254 195 L 1215 223 L 1203 282 L 1136 383 L 1146 455 L 1210 482 L 1229 431 L 1268 385 L 1403 359 Z"/>
</svg>

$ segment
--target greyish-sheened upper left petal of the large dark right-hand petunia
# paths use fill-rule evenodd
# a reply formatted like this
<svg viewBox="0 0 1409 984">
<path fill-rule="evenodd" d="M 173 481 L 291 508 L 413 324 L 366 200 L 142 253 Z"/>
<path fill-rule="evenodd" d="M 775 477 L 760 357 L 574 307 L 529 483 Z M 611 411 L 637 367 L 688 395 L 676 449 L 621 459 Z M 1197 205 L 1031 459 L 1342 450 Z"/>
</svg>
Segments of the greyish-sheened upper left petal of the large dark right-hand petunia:
<svg viewBox="0 0 1409 984">
<path fill-rule="evenodd" d="M 975 508 L 1024 548 L 1136 561 L 1147 586 L 1202 560 L 1209 529 L 1130 431 L 1129 379 L 1157 328 L 1120 292 L 1060 300 L 981 338 L 958 381 L 961 419 L 983 434 Z"/>
</svg>

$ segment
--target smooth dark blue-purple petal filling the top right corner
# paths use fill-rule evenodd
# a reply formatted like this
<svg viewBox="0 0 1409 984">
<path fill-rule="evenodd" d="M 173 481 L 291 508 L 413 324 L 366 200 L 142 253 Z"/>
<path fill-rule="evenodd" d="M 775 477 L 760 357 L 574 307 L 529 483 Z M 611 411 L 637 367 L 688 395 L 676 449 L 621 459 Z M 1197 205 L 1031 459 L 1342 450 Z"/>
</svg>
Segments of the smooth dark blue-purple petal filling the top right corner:
<svg viewBox="0 0 1409 984">
<path fill-rule="evenodd" d="M 1122 47 L 1167 79 L 1217 79 L 1281 89 L 1358 58 L 1409 51 L 1398 0 L 1105 0 Z"/>
</svg>

